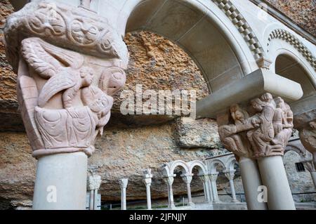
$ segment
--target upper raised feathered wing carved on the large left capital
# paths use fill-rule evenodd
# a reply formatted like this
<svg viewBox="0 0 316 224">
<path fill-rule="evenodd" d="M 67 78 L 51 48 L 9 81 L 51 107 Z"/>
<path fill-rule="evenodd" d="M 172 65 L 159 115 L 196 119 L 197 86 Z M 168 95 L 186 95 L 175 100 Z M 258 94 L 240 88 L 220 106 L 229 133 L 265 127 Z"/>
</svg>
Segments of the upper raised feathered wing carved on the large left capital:
<svg viewBox="0 0 316 224">
<path fill-rule="evenodd" d="M 61 67 L 77 69 L 84 63 L 79 53 L 58 48 L 37 37 L 22 41 L 22 56 L 44 79 L 53 77 Z"/>
</svg>

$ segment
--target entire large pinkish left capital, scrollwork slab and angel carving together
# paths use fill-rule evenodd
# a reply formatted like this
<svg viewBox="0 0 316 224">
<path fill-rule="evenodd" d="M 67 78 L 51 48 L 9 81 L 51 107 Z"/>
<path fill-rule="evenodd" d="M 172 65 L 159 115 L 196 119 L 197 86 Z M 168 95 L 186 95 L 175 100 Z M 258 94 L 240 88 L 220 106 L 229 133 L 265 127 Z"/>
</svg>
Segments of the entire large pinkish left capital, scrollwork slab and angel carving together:
<svg viewBox="0 0 316 224">
<path fill-rule="evenodd" d="M 5 32 L 33 156 L 90 156 L 126 81 L 124 41 L 93 12 L 49 1 L 13 13 Z"/>
</svg>

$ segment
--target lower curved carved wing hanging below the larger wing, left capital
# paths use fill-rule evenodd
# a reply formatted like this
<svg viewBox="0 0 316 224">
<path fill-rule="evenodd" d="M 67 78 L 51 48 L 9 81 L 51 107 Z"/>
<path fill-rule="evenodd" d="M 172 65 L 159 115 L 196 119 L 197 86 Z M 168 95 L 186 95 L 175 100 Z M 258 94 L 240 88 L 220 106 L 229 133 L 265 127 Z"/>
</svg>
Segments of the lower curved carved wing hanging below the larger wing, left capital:
<svg viewBox="0 0 316 224">
<path fill-rule="evenodd" d="M 77 76 L 63 71 L 48 79 L 39 94 L 39 107 L 43 107 L 56 93 L 72 88 L 77 83 Z"/>
</svg>

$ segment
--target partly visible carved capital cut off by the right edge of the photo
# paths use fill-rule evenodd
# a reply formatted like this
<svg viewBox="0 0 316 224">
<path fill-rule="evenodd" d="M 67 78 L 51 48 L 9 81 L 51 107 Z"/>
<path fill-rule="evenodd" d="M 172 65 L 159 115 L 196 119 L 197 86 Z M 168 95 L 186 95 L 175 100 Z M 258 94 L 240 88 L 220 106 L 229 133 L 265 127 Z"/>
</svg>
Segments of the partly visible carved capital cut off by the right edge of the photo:
<svg viewBox="0 0 316 224">
<path fill-rule="evenodd" d="M 316 109 L 296 115 L 294 126 L 298 129 L 301 143 L 312 153 L 312 160 L 316 167 Z"/>
</svg>

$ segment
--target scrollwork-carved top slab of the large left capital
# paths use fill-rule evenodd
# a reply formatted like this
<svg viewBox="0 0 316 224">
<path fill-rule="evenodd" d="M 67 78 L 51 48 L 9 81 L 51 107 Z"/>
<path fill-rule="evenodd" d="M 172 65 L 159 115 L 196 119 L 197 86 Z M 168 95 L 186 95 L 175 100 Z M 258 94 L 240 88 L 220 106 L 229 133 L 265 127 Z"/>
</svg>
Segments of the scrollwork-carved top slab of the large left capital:
<svg viewBox="0 0 316 224">
<path fill-rule="evenodd" d="M 50 1 L 34 1 L 13 13 L 5 29 L 7 58 L 13 69 L 18 68 L 18 49 L 25 37 L 40 37 L 56 46 L 100 58 L 127 60 L 122 37 L 106 18 L 93 11 Z"/>
</svg>

